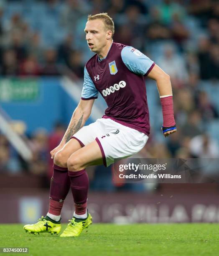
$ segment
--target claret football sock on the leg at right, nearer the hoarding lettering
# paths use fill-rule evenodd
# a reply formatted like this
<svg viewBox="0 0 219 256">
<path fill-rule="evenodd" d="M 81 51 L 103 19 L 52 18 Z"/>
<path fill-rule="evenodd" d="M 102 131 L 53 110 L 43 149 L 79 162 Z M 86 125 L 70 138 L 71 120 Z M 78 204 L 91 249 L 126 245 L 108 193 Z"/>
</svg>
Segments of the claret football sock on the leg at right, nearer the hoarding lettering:
<svg viewBox="0 0 219 256">
<path fill-rule="evenodd" d="M 69 171 L 69 177 L 71 181 L 71 192 L 75 203 L 75 213 L 76 215 L 87 216 L 87 193 L 89 189 L 87 172 L 85 170 L 78 172 Z"/>
</svg>

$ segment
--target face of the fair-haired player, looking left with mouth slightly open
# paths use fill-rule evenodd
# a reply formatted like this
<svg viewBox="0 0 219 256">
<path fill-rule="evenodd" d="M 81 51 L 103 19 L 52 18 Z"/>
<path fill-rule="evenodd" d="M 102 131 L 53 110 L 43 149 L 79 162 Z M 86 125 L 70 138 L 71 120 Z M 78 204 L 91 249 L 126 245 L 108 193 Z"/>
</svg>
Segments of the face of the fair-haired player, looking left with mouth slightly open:
<svg viewBox="0 0 219 256">
<path fill-rule="evenodd" d="M 109 35 L 102 20 L 89 20 L 84 29 L 86 40 L 91 51 L 99 53 L 107 44 Z"/>
</svg>

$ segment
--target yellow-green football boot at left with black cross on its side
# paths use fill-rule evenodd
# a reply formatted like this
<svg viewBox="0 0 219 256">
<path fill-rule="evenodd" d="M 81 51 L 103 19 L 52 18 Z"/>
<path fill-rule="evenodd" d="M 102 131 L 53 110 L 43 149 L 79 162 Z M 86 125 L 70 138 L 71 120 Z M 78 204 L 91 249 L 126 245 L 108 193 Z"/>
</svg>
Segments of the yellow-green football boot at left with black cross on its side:
<svg viewBox="0 0 219 256">
<path fill-rule="evenodd" d="M 42 216 L 36 224 L 25 225 L 23 229 L 26 232 L 29 232 L 34 235 L 36 235 L 36 233 L 40 234 L 45 232 L 50 233 L 51 235 L 58 235 L 61 230 L 61 224 L 60 221 L 57 221 L 57 223 L 53 223 L 50 220 L 47 220 L 46 217 L 44 218 Z"/>
</svg>

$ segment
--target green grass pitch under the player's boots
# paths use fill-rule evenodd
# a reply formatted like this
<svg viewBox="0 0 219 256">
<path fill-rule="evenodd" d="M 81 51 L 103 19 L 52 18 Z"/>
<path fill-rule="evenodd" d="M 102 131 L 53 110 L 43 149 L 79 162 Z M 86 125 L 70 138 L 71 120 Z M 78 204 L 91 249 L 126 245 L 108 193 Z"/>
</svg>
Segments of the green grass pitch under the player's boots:
<svg viewBox="0 0 219 256">
<path fill-rule="evenodd" d="M 219 255 L 218 224 L 93 224 L 85 230 L 77 238 L 61 238 L 2 224 L 0 247 L 28 247 L 33 256 Z"/>
</svg>

